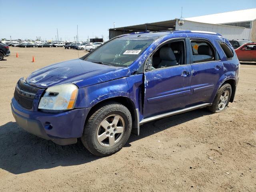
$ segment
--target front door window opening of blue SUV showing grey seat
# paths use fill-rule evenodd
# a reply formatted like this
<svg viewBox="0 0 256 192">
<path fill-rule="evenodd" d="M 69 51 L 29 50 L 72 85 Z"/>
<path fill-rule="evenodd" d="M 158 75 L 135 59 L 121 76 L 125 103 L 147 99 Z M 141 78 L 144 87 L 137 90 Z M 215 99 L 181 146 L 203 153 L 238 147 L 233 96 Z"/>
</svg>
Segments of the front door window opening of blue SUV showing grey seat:
<svg viewBox="0 0 256 192">
<path fill-rule="evenodd" d="M 152 56 L 152 70 L 185 64 L 184 41 L 163 45 Z"/>
</svg>

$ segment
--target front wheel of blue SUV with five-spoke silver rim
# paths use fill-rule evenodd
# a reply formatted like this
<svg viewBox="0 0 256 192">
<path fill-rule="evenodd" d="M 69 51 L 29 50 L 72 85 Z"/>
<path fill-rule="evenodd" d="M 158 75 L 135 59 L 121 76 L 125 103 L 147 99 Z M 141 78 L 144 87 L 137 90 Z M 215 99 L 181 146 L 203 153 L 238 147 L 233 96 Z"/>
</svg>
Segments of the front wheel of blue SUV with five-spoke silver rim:
<svg viewBox="0 0 256 192">
<path fill-rule="evenodd" d="M 107 156 L 121 150 L 130 137 L 132 116 L 120 103 L 98 108 L 84 126 L 82 143 L 96 156 Z"/>
</svg>

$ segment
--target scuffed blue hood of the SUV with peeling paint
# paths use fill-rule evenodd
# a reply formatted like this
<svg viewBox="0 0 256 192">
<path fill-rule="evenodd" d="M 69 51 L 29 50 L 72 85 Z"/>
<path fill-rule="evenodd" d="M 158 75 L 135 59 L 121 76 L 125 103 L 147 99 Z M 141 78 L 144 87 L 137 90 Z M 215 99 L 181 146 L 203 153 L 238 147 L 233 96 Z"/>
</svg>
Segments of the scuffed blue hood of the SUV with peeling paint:
<svg viewBox="0 0 256 192">
<path fill-rule="evenodd" d="M 56 63 L 39 69 L 26 79 L 38 88 L 74 83 L 79 88 L 127 76 L 128 68 L 96 64 L 81 59 Z"/>
</svg>

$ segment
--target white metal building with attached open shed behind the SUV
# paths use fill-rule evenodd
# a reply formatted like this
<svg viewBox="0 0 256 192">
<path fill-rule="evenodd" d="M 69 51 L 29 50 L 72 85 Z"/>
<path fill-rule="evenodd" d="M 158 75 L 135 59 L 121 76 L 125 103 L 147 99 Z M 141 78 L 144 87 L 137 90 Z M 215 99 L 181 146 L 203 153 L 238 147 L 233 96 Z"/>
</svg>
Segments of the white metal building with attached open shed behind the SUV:
<svg viewBox="0 0 256 192">
<path fill-rule="evenodd" d="M 200 30 L 222 34 L 225 38 L 249 39 L 256 42 L 256 8 L 186 18 L 183 25 L 179 19 L 144 23 L 109 29 L 109 38 L 132 32 L 160 30 Z"/>
</svg>

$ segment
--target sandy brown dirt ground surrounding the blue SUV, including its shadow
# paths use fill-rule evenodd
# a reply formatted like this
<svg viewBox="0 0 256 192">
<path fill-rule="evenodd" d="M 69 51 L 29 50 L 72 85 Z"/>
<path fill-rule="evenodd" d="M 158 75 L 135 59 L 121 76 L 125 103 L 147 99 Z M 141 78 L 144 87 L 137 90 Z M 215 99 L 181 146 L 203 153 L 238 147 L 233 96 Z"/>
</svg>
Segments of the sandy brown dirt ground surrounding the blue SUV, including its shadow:
<svg viewBox="0 0 256 192">
<path fill-rule="evenodd" d="M 59 146 L 25 132 L 10 110 L 20 77 L 78 51 L 10 51 L 0 61 L 0 191 L 256 192 L 256 65 L 241 65 L 225 112 L 200 109 L 146 123 L 120 152 L 98 158 L 81 142 Z"/>
</svg>

